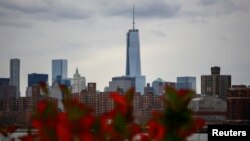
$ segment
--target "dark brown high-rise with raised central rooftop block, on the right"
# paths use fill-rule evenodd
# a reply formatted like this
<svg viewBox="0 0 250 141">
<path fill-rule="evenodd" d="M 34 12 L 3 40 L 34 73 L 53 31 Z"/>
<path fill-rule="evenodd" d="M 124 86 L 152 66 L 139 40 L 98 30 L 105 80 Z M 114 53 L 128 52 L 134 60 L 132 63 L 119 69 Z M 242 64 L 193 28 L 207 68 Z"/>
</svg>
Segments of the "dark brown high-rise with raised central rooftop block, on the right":
<svg viewBox="0 0 250 141">
<path fill-rule="evenodd" d="M 231 87 L 231 75 L 220 75 L 220 67 L 211 67 L 211 75 L 201 76 L 201 93 L 217 96 L 226 101 Z"/>
</svg>

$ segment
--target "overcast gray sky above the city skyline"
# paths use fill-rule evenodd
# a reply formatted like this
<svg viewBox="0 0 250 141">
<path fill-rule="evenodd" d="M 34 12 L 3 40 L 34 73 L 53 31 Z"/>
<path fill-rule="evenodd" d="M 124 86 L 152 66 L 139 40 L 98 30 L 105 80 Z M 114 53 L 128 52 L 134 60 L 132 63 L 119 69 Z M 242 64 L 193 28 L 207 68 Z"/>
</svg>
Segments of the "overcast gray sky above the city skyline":
<svg viewBox="0 0 250 141">
<path fill-rule="evenodd" d="M 134 0 L 146 82 L 200 76 L 220 66 L 232 84 L 250 85 L 249 0 Z M 125 74 L 126 33 L 133 0 L 0 0 L 0 77 L 21 60 L 21 95 L 29 73 L 49 74 L 68 60 L 103 91 Z"/>
</svg>

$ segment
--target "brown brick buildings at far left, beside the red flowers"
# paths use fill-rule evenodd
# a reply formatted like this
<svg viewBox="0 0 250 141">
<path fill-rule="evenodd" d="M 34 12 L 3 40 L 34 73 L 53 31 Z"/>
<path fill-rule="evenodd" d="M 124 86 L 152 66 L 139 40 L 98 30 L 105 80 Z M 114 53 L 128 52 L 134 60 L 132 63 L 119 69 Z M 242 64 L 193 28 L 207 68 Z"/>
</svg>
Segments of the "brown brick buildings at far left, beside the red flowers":
<svg viewBox="0 0 250 141">
<path fill-rule="evenodd" d="M 0 126 L 16 125 L 25 128 L 31 126 L 32 112 L 42 100 L 58 103 L 58 99 L 42 94 L 39 85 L 32 85 L 30 96 L 0 98 Z"/>
</svg>

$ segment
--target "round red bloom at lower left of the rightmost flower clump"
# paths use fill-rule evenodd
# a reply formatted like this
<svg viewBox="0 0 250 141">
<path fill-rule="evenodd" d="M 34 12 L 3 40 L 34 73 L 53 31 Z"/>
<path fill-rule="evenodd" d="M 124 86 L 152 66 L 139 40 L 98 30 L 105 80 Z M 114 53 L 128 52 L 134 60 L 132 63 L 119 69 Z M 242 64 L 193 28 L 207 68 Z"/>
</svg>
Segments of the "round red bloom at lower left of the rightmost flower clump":
<svg viewBox="0 0 250 141">
<path fill-rule="evenodd" d="M 163 125 L 157 123 L 156 121 L 149 121 L 148 123 L 149 126 L 149 136 L 152 139 L 156 139 L 156 140 L 161 140 L 164 138 L 165 134 L 166 134 L 166 129 Z"/>
</svg>

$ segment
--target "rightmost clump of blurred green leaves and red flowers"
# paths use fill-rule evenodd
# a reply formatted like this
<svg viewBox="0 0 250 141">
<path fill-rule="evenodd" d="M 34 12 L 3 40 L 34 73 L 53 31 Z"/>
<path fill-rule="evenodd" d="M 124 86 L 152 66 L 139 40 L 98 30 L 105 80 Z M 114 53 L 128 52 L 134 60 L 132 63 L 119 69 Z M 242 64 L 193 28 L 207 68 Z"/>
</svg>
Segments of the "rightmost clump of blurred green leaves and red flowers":
<svg viewBox="0 0 250 141">
<path fill-rule="evenodd" d="M 163 112 L 153 113 L 149 121 L 150 138 L 166 141 L 185 141 L 188 136 L 202 128 L 205 121 L 193 118 L 188 104 L 194 92 L 190 90 L 176 91 L 166 88 L 163 95 L 165 108 Z"/>
</svg>

